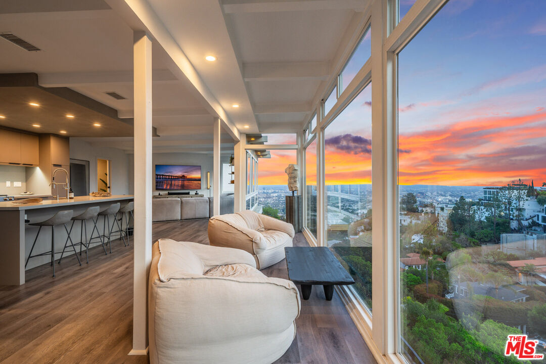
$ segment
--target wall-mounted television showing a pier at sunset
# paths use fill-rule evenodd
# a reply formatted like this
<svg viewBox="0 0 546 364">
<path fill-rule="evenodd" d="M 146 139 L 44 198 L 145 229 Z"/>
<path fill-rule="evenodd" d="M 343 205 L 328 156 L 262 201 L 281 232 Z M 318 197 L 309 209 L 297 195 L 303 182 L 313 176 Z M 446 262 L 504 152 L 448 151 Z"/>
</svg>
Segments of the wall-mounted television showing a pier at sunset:
<svg viewBox="0 0 546 364">
<path fill-rule="evenodd" d="M 156 164 L 156 190 L 201 189 L 200 165 Z"/>
</svg>

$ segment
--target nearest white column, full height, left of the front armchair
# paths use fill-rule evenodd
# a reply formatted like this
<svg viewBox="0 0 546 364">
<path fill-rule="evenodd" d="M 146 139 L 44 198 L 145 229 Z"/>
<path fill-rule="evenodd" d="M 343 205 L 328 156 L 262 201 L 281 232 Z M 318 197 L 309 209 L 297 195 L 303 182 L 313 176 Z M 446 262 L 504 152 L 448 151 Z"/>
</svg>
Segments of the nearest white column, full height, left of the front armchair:
<svg viewBox="0 0 546 364">
<path fill-rule="evenodd" d="M 134 33 L 133 350 L 146 355 L 147 281 L 152 261 L 152 42 Z"/>
</svg>

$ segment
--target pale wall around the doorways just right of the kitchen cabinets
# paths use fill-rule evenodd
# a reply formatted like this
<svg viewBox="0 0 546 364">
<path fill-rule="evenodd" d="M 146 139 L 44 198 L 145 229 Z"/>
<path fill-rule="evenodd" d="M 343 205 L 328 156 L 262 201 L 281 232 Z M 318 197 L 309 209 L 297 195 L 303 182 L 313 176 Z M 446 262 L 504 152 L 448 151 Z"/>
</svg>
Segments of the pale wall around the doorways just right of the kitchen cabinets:
<svg viewBox="0 0 546 364">
<path fill-rule="evenodd" d="M 70 158 L 89 161 L 89 190 L 97 191 L 97 158 L 110 160 L 112 195 L 129 194 L 129 156 L 118 148 L 96 148 L 90 143 L 70 138 Z M 133 181 L 133 158 L 130 158 L 130 181 Z"/>
</svg>

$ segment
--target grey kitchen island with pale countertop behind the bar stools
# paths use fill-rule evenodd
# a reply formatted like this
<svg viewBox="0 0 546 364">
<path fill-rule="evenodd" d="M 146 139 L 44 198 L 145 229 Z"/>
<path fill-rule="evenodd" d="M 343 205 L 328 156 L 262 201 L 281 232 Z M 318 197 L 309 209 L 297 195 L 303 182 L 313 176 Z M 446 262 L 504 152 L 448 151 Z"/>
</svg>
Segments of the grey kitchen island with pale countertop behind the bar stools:
<svg viewBox="0 0 546 364">
<path fill-rule="evenodd" d="M 32 198 L 33 196 L 28 197 Z M 128 202 L 132 200 L 132 195 L 112 195 L 108 197 L 76 196 L 70 200 L 66 198 L 44 200 L 35 204 L 20 204 L 17 201 L 0 202 L 0 231 L 2 231 L 2 238 L 0 239 L 0 285 L 20 285 L 25 283 L 25 260 L 38 231 L 37 226 L 26 226 L 25 218 L 30 220 L 31 223 L 40 222 L 52 217 L 61 210 L 73 210 L 74 216 L 76 216 L 90 206 L 99 206 L 102 210 L 110 204 L 122 202 L 123 205 L 124 201 Z M 74 243 L 80 241 L 79 222 L 76 224 L 70 235 Z M 67 228 L 70 229 L 69 224 L 67 225 Z M 89 227 L 87 229 L 88 237 L 92 231 Z M 98 219 L 97 227 L 99 231 L 103 231 L 102 219 Z M 50 239 L 51 234 L 40 234 L 34 247 L 34 252 L 50 250 Z M 64 229 L 56 229 L 55 242 L 57 251 L 62 250 L 66 239 L 66 231 Z M 100 242 L 97 240 L 94 244 L 100 244 Z M 69 253 L 68 250 L 65 255 L 67 253 Z M 72 259 L 69 253 L 67 259 L 63 259 L 62 264 L 77 264 L 75 259 L 74 261 Z M 48 263 L 49 261 L 50 258 L 48 256 L 33 258 L 29 261 L 27 269 Z"/>
</svg>

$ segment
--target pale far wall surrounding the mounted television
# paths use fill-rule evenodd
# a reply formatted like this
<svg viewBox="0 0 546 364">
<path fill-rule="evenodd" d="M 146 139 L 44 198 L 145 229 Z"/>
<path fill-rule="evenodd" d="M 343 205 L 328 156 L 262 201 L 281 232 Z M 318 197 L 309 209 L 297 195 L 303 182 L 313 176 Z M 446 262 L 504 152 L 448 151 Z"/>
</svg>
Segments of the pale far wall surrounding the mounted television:
<svg viewBox="0 0 546 364">
<path fill-rule="evenodd" d="M 133 159 L 134 154 L 129 154 L 129 193 L 134 191 L 134 169 Z M 229 163 L 229 156 L 221 157 L 222 163 Z M 205 197 L 209 197 L 209 193 L 212 196 L 212 154 L 205 153 L 153 153 L 152 154 L 152 183 L 155 183 L 155 165 L 156 164 L 181 164 L 181 165 L 200 165 L 201 166 L 201 189 L 199 194 L 203 194 Z M 207 190 L 206 184 L 206 172 L 210 172 L 211 189 Z M 155 187 L 152 190 L 154 195 L 159 193 L 167 194 L 167 191 L 156 190 Z M 195 190 L 191 190 L 190 193 L 195 193 Z"/>
</svg>

